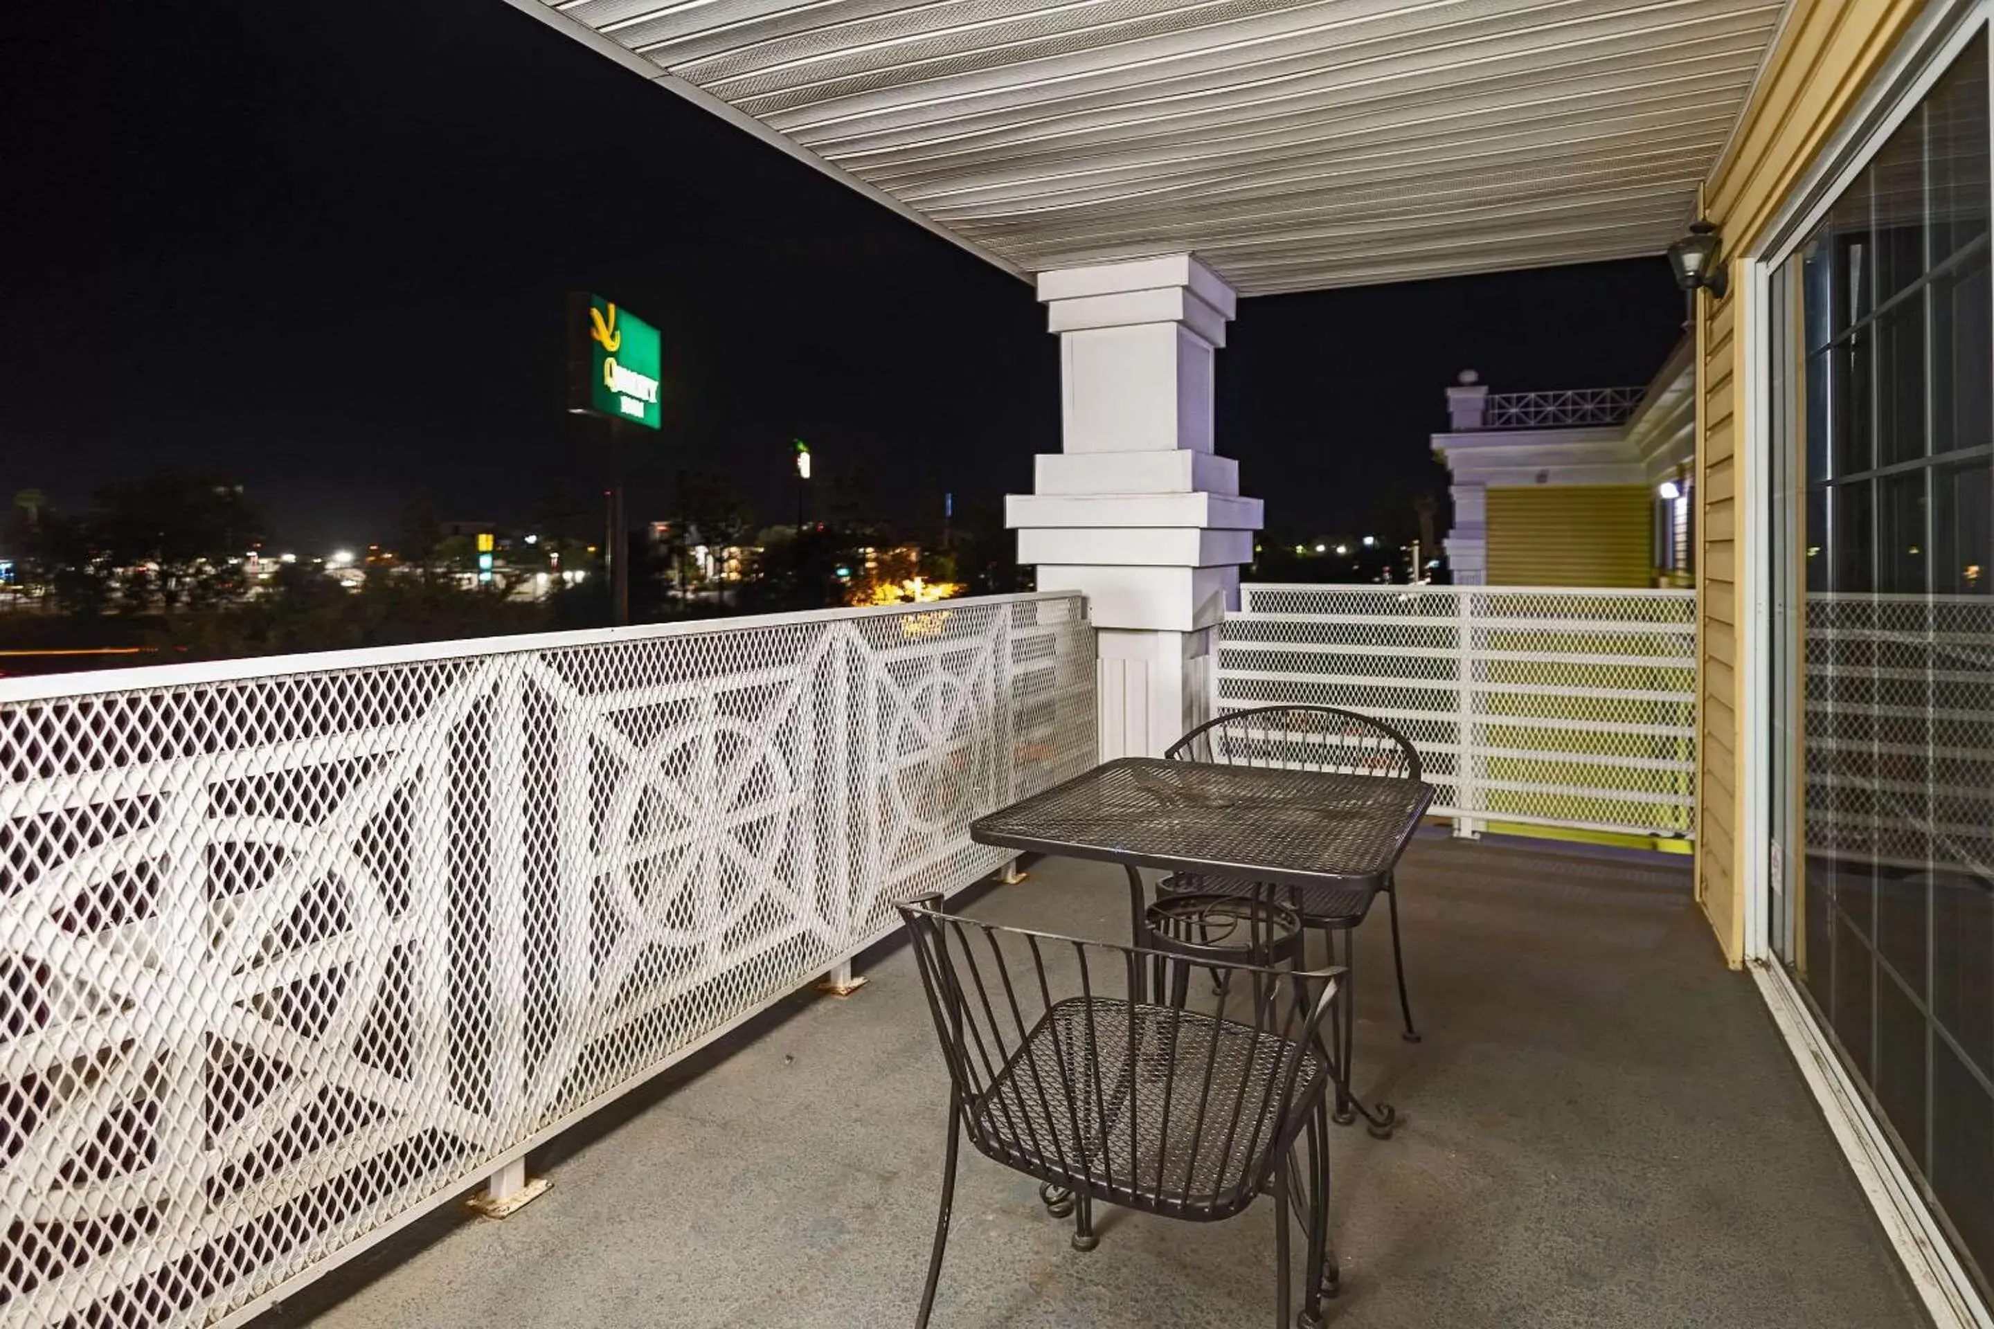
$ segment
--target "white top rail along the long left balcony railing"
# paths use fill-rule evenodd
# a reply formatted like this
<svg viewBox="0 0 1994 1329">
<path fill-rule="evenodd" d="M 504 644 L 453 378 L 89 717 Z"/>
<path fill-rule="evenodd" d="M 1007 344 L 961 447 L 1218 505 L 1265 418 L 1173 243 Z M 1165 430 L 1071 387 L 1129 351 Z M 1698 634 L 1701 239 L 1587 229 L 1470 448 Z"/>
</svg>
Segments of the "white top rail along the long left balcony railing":
<svg viewBox="0 0 1994 1329">
<path fill-rule="evenodd" d="M 50 701 L 56 697 L 90 697 L 146 687 L 175 687 L 187 683 L 233 683 L 285 673 L 323 673 L 333 669 L 371 669 L 377 665 L 431 664 L 439 660 L 477 660 L 514 652 L 572 650 L 578 646 L 612 646 L 628 642 L 664 642 L 672 638 L 710 636 L 716 632 L 750 632 L 788 628 L 796 624 L 845 622 L 855 618 L 885 618 L 893 614 L 935 614 L 977 604 L 1023 604 L 1031 600 L 1079 600 L 1073 590 L 1013 592 L 1007 596 L 965 596 L 923 604 L 883 604 L 865 608 L 798 610 L 790 614 L 738 614 L 730 618 L 696 618 L 678 624 L 634 624 L 630 628 L 580 628 L 572 632 L 522 632 L 495 638 L 451 638 L 443 642 L 409 642 L 405 646 L 365 646 L 343 652 L 309 652 L 297 656 L 243 656 L 237 660 L 207 660 L 193 664 L 138 665 L 132 669 L 88 669 L 76 673 L 38 673 L 0 679 L 0 705 L 10 701 Z"/>
</svg>

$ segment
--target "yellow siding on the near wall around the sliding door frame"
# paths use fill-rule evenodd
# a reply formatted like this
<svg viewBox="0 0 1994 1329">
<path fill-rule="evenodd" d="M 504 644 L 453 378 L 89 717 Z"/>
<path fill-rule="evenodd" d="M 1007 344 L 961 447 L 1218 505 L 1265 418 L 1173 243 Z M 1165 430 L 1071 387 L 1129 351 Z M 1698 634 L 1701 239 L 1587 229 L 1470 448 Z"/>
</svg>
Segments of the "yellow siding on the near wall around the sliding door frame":
<svg viewBox="0 0 1994 1329">
<path fill-rule="evenodd" d="M 1751 253 L 1767 223 L 1813 167 L 1828 135 L 1888 58 L 1920 0 L 1795 0 L 1779 44 L 1767 58 L 1731 151 L 1705 181 L 1705 213 L 1723 235 L 1725 253 Z M 1737 385 L 1753 367 L 1743 363 L 1737 335 L 1743 271 L 1733 267 L 1731 297 L 1701 297 L 1697 375 L 1701 400 L 1697 502 L 1697 568 L 1701 620 L 1701 677 L 1697 699 L 1703 715 L 1697 799 L 1697 899 L 1717 930 L 1725 958 L 1745 956 L 1745 847 L 1739 839 L 1745 787 L 1737 769 L 1745 751 L 1737 677 L 1747 667 L 1739 642 L 1739 590 L 1735 536 L 1743 522 L 1763 520 L 1739 492 Z"/>
</svg>

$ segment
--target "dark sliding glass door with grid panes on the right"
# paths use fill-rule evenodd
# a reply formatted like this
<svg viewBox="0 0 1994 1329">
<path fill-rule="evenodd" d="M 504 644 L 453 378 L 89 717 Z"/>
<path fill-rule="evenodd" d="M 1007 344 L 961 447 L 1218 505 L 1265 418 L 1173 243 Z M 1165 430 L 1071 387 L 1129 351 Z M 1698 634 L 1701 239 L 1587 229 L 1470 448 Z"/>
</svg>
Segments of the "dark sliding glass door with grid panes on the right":
<svg viewBox="0 0 1994 1329">
<path fill-rule="evenodd" d="M 1994 281 L 1976 40 L 1771 279 L 1771 942 L 1994 1273 Z"/>
</svg>

